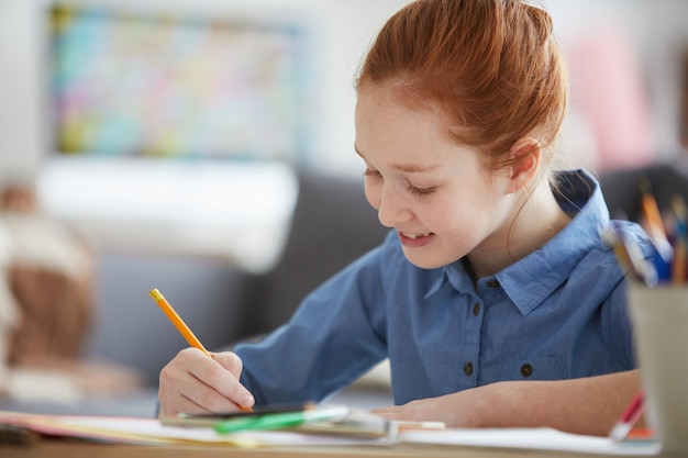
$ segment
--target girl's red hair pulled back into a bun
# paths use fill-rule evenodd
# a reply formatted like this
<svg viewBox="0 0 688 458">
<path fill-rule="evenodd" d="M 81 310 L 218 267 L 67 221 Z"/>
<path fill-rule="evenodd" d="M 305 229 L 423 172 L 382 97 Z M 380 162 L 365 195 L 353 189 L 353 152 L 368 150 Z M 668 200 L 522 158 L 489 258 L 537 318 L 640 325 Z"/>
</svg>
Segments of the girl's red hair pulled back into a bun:
<svg viewBox="0 0 688 458">
<path fill-rule="evenodd" d="M 411 108 L 439 107 L 448 134 L 485 154 L 487 165 L 511 164 L 525 136 L 548 149 L 567 101 L 563 58 L 550 14 L 519 0 L 418 0 L 379 32 L 356 81 L 391 89 Z"/>
</svg>

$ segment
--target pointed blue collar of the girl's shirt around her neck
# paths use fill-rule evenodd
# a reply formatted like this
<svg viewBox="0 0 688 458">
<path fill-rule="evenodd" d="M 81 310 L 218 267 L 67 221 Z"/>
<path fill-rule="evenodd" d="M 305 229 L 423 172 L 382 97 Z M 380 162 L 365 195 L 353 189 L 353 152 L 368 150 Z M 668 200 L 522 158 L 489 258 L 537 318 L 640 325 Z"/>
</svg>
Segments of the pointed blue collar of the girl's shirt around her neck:
<svg viewBox="0 0 688 458">
<path fill-rule="evenodd" d="M 493 277 L 523 315 L 550 297 L 572 275 L 580 259 L 599 245 L 599 228 L 609 222 L 607 204 L 592 176 L 584 170 L 561 171 L 555 179 L 557 202 L 573 216 L 572 221 L 542 248 Z M 480 281 L 487 280 L 490 278 Z M 444 273 L 433 283 L 428 295 L 446 282 L 459 292 L 475 291 L 460 260 L 444 267 Z"/>
</svg>

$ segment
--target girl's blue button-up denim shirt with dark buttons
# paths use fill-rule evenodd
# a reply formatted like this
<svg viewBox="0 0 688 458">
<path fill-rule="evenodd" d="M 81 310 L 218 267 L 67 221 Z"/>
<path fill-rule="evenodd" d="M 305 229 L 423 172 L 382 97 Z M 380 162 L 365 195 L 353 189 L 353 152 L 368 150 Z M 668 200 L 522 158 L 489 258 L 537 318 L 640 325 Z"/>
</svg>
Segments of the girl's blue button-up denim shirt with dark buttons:
<svg viewBox="0 0 688 458">
<path fill-rule="evenodd" d="M 242 382 L 258 403 L 321 401 L 388 357 L 402 404 L 500 380 L 632 369 L 624 277 L 600 237 L 609 224 L 601 191 L 584 171 L 561 172 L 558 185 L 570 223 L 477 286 L 460 260 L 411 265 L 391 232 L 308 295 L 288 324 L 236 348 Z M 642 230 L 620 224 L 650 255 Z"/>
</svg>

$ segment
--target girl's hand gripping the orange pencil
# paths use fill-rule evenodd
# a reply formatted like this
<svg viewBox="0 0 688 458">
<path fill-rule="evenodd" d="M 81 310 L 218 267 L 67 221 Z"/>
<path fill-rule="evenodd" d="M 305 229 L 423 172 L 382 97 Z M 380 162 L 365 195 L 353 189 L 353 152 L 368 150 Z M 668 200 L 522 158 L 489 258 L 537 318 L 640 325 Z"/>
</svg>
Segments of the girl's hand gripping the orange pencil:
<svg viewBox="0 0 688 458">
<path fill-rule="evenodd" d="M 253 395 L 240 382 L 242 360 L 231 351 L 208 358 L 186 348 L 160 371 L 159 415 L 232 412 L 252 407 Z"/>
</svg>

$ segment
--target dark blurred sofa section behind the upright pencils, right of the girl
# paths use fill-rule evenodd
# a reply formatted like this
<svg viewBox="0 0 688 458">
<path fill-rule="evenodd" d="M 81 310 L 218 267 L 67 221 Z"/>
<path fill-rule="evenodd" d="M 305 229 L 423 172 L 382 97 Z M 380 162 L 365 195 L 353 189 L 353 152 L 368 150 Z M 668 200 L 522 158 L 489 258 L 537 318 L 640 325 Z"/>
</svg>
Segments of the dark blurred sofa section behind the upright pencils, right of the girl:
<svg viewBox="0 0 688 458">
<path fill-rule="evenodd" d="M 641 221 L 641 188 L 643 178 L 650 180 L 661 210 L 670 208 L 674 194 L 688 201 L 688 168 L 679 164 L 654 164 L 643 168 L 613 170 L 600 176 L 607 208 L 612 217 L 623 215 Z"/>
</svg>

